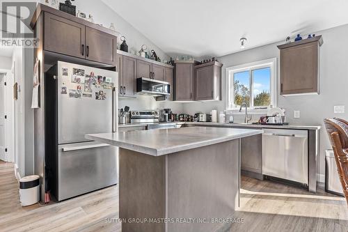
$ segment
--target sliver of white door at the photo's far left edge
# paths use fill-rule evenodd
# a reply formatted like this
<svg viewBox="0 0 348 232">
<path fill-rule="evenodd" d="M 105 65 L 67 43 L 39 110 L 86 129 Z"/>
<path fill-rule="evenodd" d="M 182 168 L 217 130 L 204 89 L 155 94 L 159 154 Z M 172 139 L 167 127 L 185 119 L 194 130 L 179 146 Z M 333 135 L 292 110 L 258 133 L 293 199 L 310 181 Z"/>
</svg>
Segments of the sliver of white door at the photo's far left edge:
<svg viewBox="0 0 348 232">
<path fill-rule="evenodd" d="M 0 74 L 0 160 L 6 161 L 5 158 L 5 75 Z"/>
</svg>

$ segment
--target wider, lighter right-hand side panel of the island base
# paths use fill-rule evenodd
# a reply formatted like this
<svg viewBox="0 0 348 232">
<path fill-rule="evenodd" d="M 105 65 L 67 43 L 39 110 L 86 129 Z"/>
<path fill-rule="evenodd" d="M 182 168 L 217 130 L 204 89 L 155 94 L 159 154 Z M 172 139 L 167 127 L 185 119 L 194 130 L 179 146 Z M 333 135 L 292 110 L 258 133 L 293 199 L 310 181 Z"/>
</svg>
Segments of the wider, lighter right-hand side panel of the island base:
<svg viewBox="0 0 348 232">
<path fill-rule="evenodd" d="M 168 218 L 228 218 L 239 207 L 239 140 L 166 155 Z M 226 224 L 167 224 L 170 232 Z"/>
</svg>

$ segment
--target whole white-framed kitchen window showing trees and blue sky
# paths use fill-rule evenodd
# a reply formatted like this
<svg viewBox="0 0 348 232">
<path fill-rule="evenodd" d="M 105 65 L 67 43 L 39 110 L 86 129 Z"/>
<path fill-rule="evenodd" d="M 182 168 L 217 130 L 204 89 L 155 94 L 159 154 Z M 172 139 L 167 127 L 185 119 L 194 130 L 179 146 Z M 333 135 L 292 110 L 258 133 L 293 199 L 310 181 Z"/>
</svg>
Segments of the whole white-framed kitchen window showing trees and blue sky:
<svg viewBox="0 0 348 232">
<path fill-rule="evenodd" d="M 254 114 L 276 106 L 276 58 L 226 68 L 226 111 L 244 102 Z"/>
</svg>

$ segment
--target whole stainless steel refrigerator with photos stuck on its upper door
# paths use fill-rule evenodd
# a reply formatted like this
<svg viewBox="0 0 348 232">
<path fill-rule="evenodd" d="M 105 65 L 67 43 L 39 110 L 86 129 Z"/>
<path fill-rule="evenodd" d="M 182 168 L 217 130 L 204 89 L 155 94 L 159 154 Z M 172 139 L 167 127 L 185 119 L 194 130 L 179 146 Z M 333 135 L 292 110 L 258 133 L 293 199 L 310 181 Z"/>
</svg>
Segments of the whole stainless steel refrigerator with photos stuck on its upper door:
<svg viewBox="0 0 348 232">
<path fill-rule="evenodd" d="M 58 61 L 45 73 L 46 191 L 61 201 L 118 183 L 118 150 L 85 134 L 117 131 L 117 72 Z"/>
</svg>

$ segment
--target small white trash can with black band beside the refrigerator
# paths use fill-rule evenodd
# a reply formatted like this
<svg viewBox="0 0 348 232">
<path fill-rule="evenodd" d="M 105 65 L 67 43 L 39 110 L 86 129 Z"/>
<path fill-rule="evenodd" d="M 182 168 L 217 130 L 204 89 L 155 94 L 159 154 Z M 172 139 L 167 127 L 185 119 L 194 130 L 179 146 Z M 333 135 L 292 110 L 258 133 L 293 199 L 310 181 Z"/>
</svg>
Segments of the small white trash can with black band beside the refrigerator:
<svg viewBox="0 0 348 232">
<path fill-rule="evenodd" d="M 40 201 L 40 176 L 24 176 L 19 180 L 19 201 L 22 206 Z"/>
</svg>

